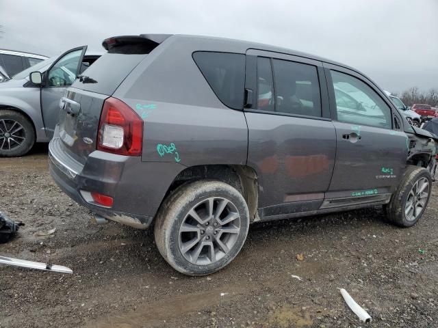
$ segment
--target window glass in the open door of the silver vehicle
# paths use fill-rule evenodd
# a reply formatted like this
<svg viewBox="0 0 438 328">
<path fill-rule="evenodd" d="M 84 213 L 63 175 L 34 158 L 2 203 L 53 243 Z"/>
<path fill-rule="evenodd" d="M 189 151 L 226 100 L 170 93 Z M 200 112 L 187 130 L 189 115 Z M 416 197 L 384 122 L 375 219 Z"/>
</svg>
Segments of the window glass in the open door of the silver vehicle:
<svg viewBox="0 0 438 328">
<path fill-rule="evenodd" d="M 82 49 L 67 53 L 50 69 L 48 81 L 50 87 L 66 87 L 76 79 L 76 70 Z"/>
</svg>

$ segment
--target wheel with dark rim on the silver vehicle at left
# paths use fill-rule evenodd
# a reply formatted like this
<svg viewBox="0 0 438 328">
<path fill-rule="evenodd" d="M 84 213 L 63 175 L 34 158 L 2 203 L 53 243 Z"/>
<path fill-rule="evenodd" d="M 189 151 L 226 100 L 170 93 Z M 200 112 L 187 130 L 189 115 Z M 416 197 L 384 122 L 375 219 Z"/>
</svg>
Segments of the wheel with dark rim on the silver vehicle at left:
<svg viewBox="0 0 438 328">
<path fill-rule="evenodd" d="M 27 154 L 35 143 L 35 128 L 25 115 L 9 109 L 0 110 L 0 157 Z"/>
</svg>

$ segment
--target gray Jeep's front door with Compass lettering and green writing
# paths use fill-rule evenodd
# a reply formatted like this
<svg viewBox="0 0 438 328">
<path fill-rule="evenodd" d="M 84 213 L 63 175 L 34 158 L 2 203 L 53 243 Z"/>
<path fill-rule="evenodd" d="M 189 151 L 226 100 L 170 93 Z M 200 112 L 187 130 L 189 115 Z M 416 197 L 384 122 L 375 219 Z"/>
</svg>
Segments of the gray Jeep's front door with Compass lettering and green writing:
<svg viewBox="0 0 438 328">
<path fill-rule="evenodd" d="M 336 163 L 322 207 L 387 202 L 407 161 L 400 114 L 357 72 L 324 64 L 336 129 Z M 346 101 L 348 97 L 348 101 Z"/>
</svg>

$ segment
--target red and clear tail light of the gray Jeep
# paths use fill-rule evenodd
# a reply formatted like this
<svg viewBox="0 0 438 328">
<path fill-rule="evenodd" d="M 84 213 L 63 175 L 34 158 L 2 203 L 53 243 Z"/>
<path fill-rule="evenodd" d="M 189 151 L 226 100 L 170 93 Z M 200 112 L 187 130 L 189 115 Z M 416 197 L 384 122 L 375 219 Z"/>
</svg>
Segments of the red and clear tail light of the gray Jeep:
<svg viewBox="0 0 438 328">
<path fill-rule="evenodd" d="M 143 143 L 143 120 L 117 98 L 103 103 L 97 149 L 113 154 L 140 156 Z"/>
</svg>

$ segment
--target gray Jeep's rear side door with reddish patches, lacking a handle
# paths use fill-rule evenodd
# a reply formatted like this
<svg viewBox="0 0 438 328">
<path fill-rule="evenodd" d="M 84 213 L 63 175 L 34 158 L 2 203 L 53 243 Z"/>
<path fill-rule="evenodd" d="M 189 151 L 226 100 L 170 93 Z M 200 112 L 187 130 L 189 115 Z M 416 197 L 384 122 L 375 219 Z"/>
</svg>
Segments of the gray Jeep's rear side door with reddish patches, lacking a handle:
<svg viewBox="0 0 438 328">
<path fill-rule="evenodd" d="M 246 57 L 248 165 L 257 171 L 259 215 L 317 210 L 336 149 L 322 63 L 256 50 Z"/>
</svg>

